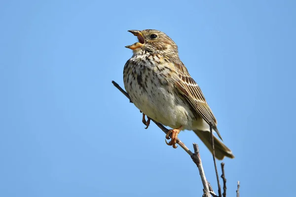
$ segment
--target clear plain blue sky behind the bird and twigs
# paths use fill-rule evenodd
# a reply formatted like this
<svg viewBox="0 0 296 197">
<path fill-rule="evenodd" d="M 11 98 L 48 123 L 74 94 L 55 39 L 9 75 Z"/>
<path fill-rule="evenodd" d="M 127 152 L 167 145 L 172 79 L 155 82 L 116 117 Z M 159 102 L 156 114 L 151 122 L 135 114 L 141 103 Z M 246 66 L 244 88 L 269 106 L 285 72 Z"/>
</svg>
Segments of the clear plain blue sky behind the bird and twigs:
<svg viewBox="0 0 296 197">
<path fill-rule="evenodd" d="M 196 197 L 198 170 L 111 80 L 137 39 L 166 32 L 235 159 L 228 197 L 295 196 L 296 1 L 0 2 L 1 197 Z M 212 156 L 200 144 L 217 191 Z M 220 171 L 220 168 L 219 168 Z"/>
</svg>

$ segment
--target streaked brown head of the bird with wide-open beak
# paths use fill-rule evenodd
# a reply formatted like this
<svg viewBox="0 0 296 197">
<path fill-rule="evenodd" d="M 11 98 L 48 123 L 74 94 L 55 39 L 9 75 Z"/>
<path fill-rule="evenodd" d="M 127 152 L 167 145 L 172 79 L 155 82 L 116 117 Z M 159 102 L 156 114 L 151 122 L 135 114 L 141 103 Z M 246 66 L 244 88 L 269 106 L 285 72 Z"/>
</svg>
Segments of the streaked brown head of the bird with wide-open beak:
<svg viewBox="0 0 296 197">
<path fill-rule="evenodd" d="M 132 49 L 134 54 L 147 52 L 178 55 L 176 43 L 164 32 L 154 29 L 128 31 L 138 37 L 138 42 L 126 46 L 126 48 Z"/>
</svg>

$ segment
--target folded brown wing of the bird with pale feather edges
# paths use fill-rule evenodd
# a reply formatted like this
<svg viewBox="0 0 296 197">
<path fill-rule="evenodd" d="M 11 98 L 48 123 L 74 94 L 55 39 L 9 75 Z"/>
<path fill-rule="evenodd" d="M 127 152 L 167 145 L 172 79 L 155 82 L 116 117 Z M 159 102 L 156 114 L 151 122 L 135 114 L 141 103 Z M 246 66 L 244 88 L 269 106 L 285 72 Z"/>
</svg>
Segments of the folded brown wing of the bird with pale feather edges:
<svg viewBox="0 0 296 197">
<path fill-rule="evenodd" d="M 186 98 L 191 107 L 216 131 L 219 138 L 222 137 L 217 128 L 217 120 L 210 109 L 200 87 L 189 75 L 185 65 L 181 63 L 175 63 L 178 70 L 179 80 L 175 82 L 175 86 L 179 92 Z"/>
</svg>

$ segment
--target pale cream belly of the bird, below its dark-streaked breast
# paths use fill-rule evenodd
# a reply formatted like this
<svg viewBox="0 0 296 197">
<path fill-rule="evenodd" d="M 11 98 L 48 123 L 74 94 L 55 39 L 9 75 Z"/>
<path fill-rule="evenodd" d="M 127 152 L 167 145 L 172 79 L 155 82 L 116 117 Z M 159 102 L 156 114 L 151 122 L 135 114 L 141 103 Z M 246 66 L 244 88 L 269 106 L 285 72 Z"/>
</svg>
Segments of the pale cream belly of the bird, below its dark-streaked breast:
<svg viewBox="0 0 296 197">
<path fill-rule="evenodd" d="M 192 117 L 194 116 L 184 101 L 178 96 L 168 93 L 169 85 L 166 88 L 161 84 L 157 84 L 157 86 L 152 89 L 152 84 L 148 82 L 148 88 L 143 88 L 133 81 L 131 88 L 127 86 L 127 92 L 135 106 L 155 121 L 171 128 L 183 125 L 184 129 L 191 130 Z"/>
</svg>

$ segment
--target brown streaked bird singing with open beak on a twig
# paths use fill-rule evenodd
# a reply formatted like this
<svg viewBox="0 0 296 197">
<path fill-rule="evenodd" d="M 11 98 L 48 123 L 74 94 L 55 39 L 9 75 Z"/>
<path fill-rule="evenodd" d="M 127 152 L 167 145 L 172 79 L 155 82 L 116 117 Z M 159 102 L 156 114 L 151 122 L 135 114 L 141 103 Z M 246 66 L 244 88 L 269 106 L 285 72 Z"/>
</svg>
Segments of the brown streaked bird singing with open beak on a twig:
<svg viewBox="0 0 296 197">
<path fill-rule="evenodd" d="M 166 143 L 173 148 L 177 148 L 180 131 L 192 130 L 213 153 L 212 128 L 220 138 L 213 136 L 216 158 L 234 158 L 222 142 L 217 120 L 199 85 L 180 60 L 177 44 L 159 30 L 128 31 L 138 42 L 126 46 L 133 55 L 124 65 L 123 82 L 131 101 L 143 113 L 146 128 L 150 119 L 171 127 L 166 135 L 171 141 Z"/>
</svg>

